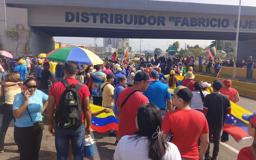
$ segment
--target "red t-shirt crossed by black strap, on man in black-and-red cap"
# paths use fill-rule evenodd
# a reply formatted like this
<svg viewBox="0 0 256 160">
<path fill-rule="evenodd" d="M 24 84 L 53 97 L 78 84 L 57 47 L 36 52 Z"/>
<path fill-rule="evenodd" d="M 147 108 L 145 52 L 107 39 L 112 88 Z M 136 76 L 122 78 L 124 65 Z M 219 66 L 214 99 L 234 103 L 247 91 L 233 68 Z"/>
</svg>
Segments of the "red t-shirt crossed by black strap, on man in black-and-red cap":
<svg viewBox="0 0 256 160">
<path fill-rule="evenodd" d="M 117 98 L 117 106 L 121 107 L 123 101 L 127 96 L 133 92 L 135 89 L 128 87 L 123 89 Z M 118 135 L 123 137 L 125 135 L 133 135 L 137 131 L 135 125 L 135 118 L 137 116 L 137 111 L 142 104 L 149 103 L 146 96 L 141 92 L 135 92 L 128 98 L 121 109 L 120 120 L 118 124 Z"/>
</svg>

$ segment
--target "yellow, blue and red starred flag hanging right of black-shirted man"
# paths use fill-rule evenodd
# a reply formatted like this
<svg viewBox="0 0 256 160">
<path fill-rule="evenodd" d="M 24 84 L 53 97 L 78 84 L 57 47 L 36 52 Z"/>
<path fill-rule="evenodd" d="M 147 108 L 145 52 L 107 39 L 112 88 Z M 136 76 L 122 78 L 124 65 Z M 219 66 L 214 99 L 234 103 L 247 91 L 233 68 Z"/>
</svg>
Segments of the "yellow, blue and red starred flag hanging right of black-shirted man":
<svg viewBox="0 0 256 160">
<path fill-rule="evenodd" d="M 231 103 L 231 114 L 226 116 L 226 122 L 223 127 L 223 131 L 229 133 L 237 142 L 241 140 L 251 138 L 248 134 L 247 125 L 248 121 L 242 119 L 244 113 L 252 114 L 250 111 L 245 110 L 239 105 Z"/>
</svg>

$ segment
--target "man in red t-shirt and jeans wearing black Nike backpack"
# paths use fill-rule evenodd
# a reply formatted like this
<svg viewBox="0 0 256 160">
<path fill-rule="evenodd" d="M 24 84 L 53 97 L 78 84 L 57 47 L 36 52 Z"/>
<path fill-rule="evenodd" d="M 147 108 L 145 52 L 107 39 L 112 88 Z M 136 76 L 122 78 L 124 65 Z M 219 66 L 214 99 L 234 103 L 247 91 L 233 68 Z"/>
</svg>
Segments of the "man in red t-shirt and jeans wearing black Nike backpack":
<svg viewBox="0 0 256 160">
<path fill-rule="evenodd" d="M 78 73 L 75 62 L 66 62 L 64 73 L 66 79 L 53 83 L 49 92 L 48 130 L 51 134 L 55 134 L 57 159 L 68 158 L 69 140 L 71 140 L 74 159 L 83 159 L 85 134 L 91 134 L 90 92 L 84 83 L 75 79 Z"/>
</svg>

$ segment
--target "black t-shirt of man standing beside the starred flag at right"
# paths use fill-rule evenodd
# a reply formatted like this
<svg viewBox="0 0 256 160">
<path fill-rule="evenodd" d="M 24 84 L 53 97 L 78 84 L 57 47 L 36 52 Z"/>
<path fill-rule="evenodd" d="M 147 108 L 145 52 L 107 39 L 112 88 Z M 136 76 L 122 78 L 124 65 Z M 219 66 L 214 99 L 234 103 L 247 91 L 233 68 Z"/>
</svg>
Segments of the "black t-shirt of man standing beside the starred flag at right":
<svg viewBox="0 0 256 160">
<path fill-rule="evenodd" d="M 211 93 L 204 98 L 204 107 L 208 108 L 206 119 L 209 127 L 222 128 L 225 124 L 227 108 L 231 106 L 229 97 L 222 93 Z"/>
</svg>

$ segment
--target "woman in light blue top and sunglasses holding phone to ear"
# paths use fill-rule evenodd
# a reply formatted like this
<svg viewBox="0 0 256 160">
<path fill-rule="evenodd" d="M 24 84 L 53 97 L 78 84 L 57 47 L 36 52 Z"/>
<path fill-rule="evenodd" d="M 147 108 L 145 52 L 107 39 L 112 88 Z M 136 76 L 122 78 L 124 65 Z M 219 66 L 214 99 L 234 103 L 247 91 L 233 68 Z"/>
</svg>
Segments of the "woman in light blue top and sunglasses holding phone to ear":
<svg viewBox="0 0 256 160">
<path fill-rule="evenodd" d="M 16 118 L 14 139 L 20 152 L 20 160 L 38 160 L 43 131 L 33 131 L 33 123 L 42 121 L 41 113 L 47 107 L 48 95 L 36 89 L 34 78 L 26 78 L 23 85 L 27 87 L 27 91 L 17 94 L 13 101 L 13 115 Z"/>
</svg>

